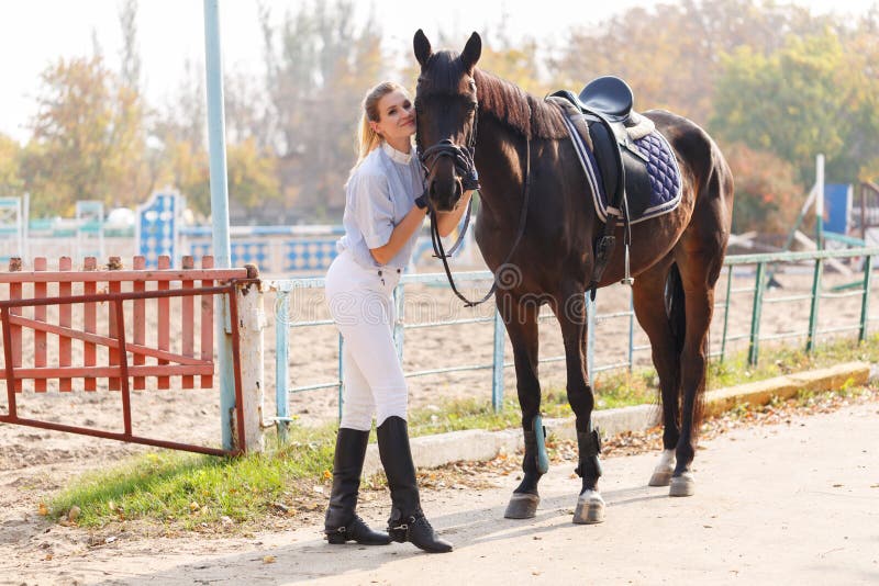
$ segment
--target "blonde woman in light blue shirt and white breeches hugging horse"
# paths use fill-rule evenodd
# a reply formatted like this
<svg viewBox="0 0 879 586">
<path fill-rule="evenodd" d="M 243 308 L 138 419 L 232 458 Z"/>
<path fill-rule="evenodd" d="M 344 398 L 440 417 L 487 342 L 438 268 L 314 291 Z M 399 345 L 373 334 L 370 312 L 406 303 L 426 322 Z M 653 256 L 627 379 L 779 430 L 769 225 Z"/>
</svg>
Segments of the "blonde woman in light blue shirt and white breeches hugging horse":
<svg viewBox="0 0 879 586">
<path fill-rule="evenodd" d="M 326 273 L 330 313 L 345 343 L 342 421 L 324 532 L 330 543 L 409 541 L 429 552 L 447 552 L 452 544 L 436 537 L 421 510 L 409 449 L 408 390 L 393 343 L 393 289 L 427 213 L 422 169 L 412 148 L 415 110 L 393 82 L 370 90 L 363 109 L 359 158 L 346 184 L 345 236 Z M 472 161 L 464 167 L 463 183 L 476 188 Z M 442 235 L 457 226 L 471 193 L 463 193 L 455 211 L 437 214 Z M 390 534 L 372 531 L 355 512 L 374 415 L 391 492 Z"/>
</svg>

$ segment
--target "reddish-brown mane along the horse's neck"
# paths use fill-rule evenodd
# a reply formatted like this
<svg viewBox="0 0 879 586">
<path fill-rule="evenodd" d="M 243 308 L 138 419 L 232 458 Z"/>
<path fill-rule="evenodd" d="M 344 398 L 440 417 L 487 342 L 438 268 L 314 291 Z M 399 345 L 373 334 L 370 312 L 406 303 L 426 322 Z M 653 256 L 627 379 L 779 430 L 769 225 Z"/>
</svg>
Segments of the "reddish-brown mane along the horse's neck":
<svg viewBox="0 0 879 586">
<path fill-rule="evenodd" d="M 567 138 L 559 110 L 519 86 L 481 69 L 474 70 L 480 111 L 530 138 Z M 531 106 L 531 109 L 528 109 Z"/>
</svg>

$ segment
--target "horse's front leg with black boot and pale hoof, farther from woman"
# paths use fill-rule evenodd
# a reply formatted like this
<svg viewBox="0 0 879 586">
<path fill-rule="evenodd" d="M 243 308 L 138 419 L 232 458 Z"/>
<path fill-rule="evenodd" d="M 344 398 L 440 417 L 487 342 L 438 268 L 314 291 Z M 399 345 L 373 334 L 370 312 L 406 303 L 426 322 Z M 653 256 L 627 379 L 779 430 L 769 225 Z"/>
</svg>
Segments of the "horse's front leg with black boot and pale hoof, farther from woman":
<svg viewBox="0 0 879 586">
<path fill-rule="evenodd" d="M 577 447 L 579 465 L 577 474 L 582 478 L 580 496 L 574 511 L 575 523 L 600 523 L 604 520 L 604 499 L 598 491 L 601 476 L 601 439 L 598 429 L 592 427 L 594 397 L 586 372 L 586 295 L 583 291 L 572 290 L 561 296 L 556 308 L 556 317 L 561 325 L 565 341 L 565 361 L 568 374 L 568 402 L 576 416 Z"/>
</svg>

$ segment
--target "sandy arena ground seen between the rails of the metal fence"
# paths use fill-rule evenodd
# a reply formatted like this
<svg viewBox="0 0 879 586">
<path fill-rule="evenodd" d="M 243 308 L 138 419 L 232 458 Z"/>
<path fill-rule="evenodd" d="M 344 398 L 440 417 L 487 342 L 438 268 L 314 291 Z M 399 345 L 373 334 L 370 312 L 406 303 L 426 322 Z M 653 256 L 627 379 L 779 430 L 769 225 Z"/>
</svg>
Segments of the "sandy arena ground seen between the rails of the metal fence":
<svg viewBox="0 0 879 586">
<path fill-rule="evenodd" d="M 733 279 L 733 293 L 731 295 L 730 314 L 727 318 L 726 351 L 736 352 L 747 348 L 747 335 L 750 331 L 753 313 L 754 288 L 753 268 L 748 272 L 745 268 L 736 272 Z M 778 274 L 776 277 L 783 286 L 771 289 L 765 294 L 765 303 L 772 297 L 788 297 L 811 293 L 811 268 L 798 268 L 797 272 Z M 825 288 L 834 284 L 852 282 L 855 278 L 825 272 Z M 735 290 L 748 290 L 739 291 Z M 483 293 L 479 286 L 465 292 L 470 298 Z M 464 292 L 464 291 L 463 291 Z M 726 294 L 726 273 L 717 284 L 716 302 L 722 302 Z M 481 296 L 481 295 L 479 295 Z M 598 315 L 616 314 L 630 309 L 630 292 L 627 288 L 614 285 L 599 291 L 597 297 Z M 403 316 L 407 329 L 404 330 L 403 370 L 405 372 L 424 371 L 447 367 L 482 365 L 489 367 L 492 362 L 493 324 L 486 323 L 465 324 L 459 326 L 439 326 L 433 328 L 412 328 L 411 326 L 423 323 L 448 322 L 453 319 L 486 318 L 493 316 L 493 304 L 486 303 L 476 308 L 465 308 L 447 288 L 427 285 L 407 285 L 405 313 Z M 874 305 L 875 306 L 875 305 Z M 274 303 L 270 296 L 266 297 L 266 308 L 269 327 L 266 330 L 266 340 L 275 339 L 274 330 Z M 809 301 L 790 301 L 785 303 L 767 303 L 764 305 L 760 319 L 760 336 L 777 336 L 791 333 L 800 334 L 799 338 L 779 340 L 787 343 L 804 343 L 805 333 L 809 327 Z M 879 315 L 879 309 L 875 311 Z M 297 320 L 329 319 L 329 313 L 320 290 L 300 290 L 290 302 L 289 315 Z M 561 388 L 565 385 L 565 350 L 558 323 L 552 312 L 544 307 L 542 315 L 545 317 L 539 328 L 539 356 L 541 360 L 550 362 L 541 365 L 541 383 L 544 388 Z M 819 329 L 831 329 L 844 326 L 857 326 L 860 317 L 860 297 L 846 296 L 839 298 L 823 298 L 819 311 Z M 711 328 L 712 352 L 721 350 L 723 338 L 724 308 L 715 309 Z M 596 367 L 624 363 L 628 359 L 628 317 L 613 317 L 601 319 L 596 326 Z M 647 347 L 649 340 L 634 322 L 634 347 Z M 841 334 L 836 334 L 841 335 Z M 856 330 L 842 335 L 854 336 Z M 820 336 L 819 339 L 827 339 Z M 337 334 L 330 326 L 315 326 L 309 328 L 293 328 L 289 333 L 290 339 L 290 387 L 307 386 L 337 380 Z M 761 348 L 767 348 L 779 341 L 761 342 Z M 553 362 L 553 360 L 556 360 Z M 634 352 L 633 360 L 639 365 L 652 365 L 648 349 Z M 512 363 L 512 350 L 509 339 L 505 343 L 504 362 Z M 275 388 L 275 348 L 274 343 L 266 343 L 266 387 Z M 504 393 L 515 396 L 515 371 L 507 368 L 504 371 Z M 410 406 L 414 408 L 429 405 L 439 405 L 450 398 L 478 397 L 486 402 L 491 398 L 491 370 L 475 370 L 455 372 L 453 374 L 433 374 L 410 379 Z M 274 397 L 267 396 L 267 405 Z M 598 397 L 601 406 L 601 397 Z M 271 408 L 267 406 L 267 410 Z M 338 409 L 337 391 L 335 388 L 308 391 L 294 394 L 290 398 L 290 410 L 302 418 L 332 418 L 336 417 Z"/>
</svg>

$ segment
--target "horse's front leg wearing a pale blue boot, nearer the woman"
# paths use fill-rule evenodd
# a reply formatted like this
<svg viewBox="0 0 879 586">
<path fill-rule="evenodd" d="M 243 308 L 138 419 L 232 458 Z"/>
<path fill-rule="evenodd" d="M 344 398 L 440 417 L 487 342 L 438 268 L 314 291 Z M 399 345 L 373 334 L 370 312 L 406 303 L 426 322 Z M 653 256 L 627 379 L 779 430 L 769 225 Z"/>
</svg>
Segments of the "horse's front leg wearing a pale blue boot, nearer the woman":
<svg viewBox="0 0 879 586">
<path fill-rule="evenodd" d="M 537 483 L 546 472 L 541 465 L 538 449 L 543 440 L 543 426 L 537 417 L 541 412 L 541 383 L 537 380 L 539 304 L 535 300 L 516 297 L 510 293 L 499 294 L 497 304 L 513 347 L 516 391 L 519 405 L 522 407 L 522 429 L 525 435 L 522 482 L 513 491 L 503 516 L 508 519 L 530 519 L 537 514 L 537 505 L 541 502 Z M 535 421 L 539 429 L 535 428 Z"/>
</svg>

